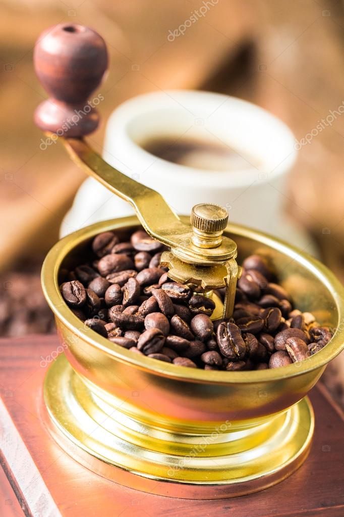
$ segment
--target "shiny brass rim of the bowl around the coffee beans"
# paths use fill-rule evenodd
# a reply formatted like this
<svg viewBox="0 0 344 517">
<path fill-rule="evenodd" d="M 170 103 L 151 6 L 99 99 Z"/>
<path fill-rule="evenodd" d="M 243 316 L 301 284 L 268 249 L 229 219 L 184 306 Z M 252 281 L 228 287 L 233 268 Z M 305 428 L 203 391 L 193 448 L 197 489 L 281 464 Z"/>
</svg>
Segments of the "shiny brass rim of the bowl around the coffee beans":
<svg viewBox="0 0 344 517">
<path fill-rule="evenodd" d="M 181 217 L 187 218 L 187 216 Z M 139 225 L 140 223 L 136 216 L 94 223 L 63 237 L 53 246 L 45 257 L 42 265 L 41 283 L 46 301 L 52 309 L 55 317 L 88 344 L 101 349 L 104 353 L 121 362 L 129 363 L 141 370 L 160 376 L 208 384 L 251 384 L 281 381 L 285 378 L 296 377 L 324 367 L 344 348 L 344 328 L 341 329 L 338 326 L 331 341 L 327 343 L 326 346 L 313 356 L 308 357 L 299 363 L 292 363 L 281 368 L 267 370 L 237 372 L 211 371 L 177 366 L 172 363 L 158 361 L 150 357 L 134 354 L 126 348 L 114 344 L 108 339 L 100 336 L 100 334 L 97 334 L 90 328 L 85 328 L 83 322 L 73 314 L 67 303 L 65 303 L 59 290 L 58 272 L 63 259 L 77 245 L 81 244 L 81 242 L 94 237 L 98 233 L 111 230 L 123 230 L 130 226 Z M 247 226 L 234 223 L 228 224 L 225 232 L 230 232 L 234 235 L 238 234 L 255 240 L 259 239 L 261 244 L 270 246 L 282 253 L 292 253 L 293 255 L 296 255 L 294 260 L 298 260 L 309 270 L 316 273 L 318 279 L 321 280 L 332 293 L 338 311 L 338 319 L 340 320 L 340 316 L 344 314 L 344 287 L 341 285 L 339 280 L 337 280 L 334 274 L 316 258 L 287 244 L 283 240 L 272 237 L 266 233 L 250 229 Z"/>
</svg>

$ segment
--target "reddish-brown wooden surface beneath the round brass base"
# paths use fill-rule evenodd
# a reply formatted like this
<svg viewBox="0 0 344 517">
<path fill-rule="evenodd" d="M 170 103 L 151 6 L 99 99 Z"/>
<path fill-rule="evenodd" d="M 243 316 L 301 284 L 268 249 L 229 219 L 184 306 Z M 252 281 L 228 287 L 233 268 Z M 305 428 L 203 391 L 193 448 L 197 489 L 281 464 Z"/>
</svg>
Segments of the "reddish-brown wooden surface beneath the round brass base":
<svg viewBox="0 0 344 517">
<path fill-rule="evenodd" d="M 321 384 L 310 393 L 316 415 L 312 449 L 304 465 L 291 477 L 263 492 L 243 497 L 211 501 L 172 499 L 144 494 L 101 478 L 76 463 L 54 442 L 40 412 L 45 364 L 57 346 L 56 336 L 0 340 L 0 458 L 26 515 L 344 515 L 343 416 Z M 0 485 L 1 495 L 0 515 L 20 515 L 19 505 L 8 502 L 8 487 Z"/>
</svg>

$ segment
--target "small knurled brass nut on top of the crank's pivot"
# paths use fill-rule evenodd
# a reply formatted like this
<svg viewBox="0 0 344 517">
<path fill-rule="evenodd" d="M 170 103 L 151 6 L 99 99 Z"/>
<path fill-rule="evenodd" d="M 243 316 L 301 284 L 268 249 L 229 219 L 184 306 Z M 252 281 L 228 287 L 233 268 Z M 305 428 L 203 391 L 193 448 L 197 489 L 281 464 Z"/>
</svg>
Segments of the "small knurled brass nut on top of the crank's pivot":
<svg viewBox="0 0 344 517">
<path fill-rule="evenodd" d="M 214 203 L 200 203 L 191 210 L 192 242 L 199 248 L 216 248 L 228 222 L 228 212 Z"/>
</svg>

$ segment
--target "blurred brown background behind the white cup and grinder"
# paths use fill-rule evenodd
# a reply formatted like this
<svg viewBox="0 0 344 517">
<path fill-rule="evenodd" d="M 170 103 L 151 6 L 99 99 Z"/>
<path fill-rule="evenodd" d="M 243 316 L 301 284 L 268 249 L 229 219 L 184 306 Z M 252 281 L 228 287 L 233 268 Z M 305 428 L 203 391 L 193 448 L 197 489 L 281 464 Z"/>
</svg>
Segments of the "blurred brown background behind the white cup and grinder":
<svg viewBox="0 0 344 517">
<path fill-rule="evenodd" d="M 281 210 L 308 232 L 322 260 L 344 279 L 344 3 L 214 0 L 205 16 L 170 41 L 170 31 L 203 4 L 0 2 L 3 336 L 54 330 L 39 271 L 85 179 L 58 145 L 40 149 L 42 134 L 32 123 L 35 108 L 46 98 L 32 66 L 35 40 L 46 27 L 61 22 L 91 26 L 108 46 L 109 75 L 99 90 L 104 96 L 103 122 L 92 135 L 92 145 L 100 152 L 112 110 L 130 97 L 155 90 L 204 89 L 233 95 L 266 108 L 289 125 L 303 143 Z M 338 358 L 324 379 L 343 402 L 341 362 Z"/>
</svg>

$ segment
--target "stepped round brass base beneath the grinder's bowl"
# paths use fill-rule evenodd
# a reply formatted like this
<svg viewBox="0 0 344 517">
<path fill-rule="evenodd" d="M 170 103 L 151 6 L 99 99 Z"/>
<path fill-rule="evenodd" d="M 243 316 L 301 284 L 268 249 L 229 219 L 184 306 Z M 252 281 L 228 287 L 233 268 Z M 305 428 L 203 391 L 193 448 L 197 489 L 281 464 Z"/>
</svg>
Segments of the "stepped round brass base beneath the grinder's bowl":
<svg viewBox="0 0 344 517">
<path fill-rule="evenodd" d="M 153 428 L 101 399 L 64 354 L 46 375 L 44 399 L 48 428 L 79 463 L 130 488 L 187 499 L 235 497 L 282 481 L 307 457 L 314 430 L 307 397 L 241 431 L 228 422 L 229 432 L 209 435 Z"/>
</svg>

